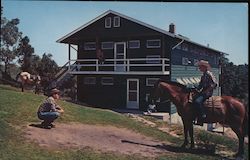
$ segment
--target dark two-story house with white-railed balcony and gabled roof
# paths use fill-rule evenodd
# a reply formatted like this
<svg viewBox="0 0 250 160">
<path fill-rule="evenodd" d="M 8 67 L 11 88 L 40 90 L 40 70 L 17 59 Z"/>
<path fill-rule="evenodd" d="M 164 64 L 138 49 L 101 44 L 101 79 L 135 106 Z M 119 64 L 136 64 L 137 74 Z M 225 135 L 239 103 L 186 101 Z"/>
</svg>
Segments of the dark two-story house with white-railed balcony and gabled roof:
<svg viewBox="0 0 250 160">
<path fill-rule="evenodd" d="M 68 73 L 77 76 L 78 100 L 100 107 L 146 110 L 159 78 L 199 83 L 196 62 L 201 59 L 219 79 L 222 52 L 176 34 L 174 24 L 165 31 L 108 10 L 57 42 L 69 45 Z M 76 60 L 71 59 L 73 45 Z M 174 113 L 175 107 L 168 102 L 158 110 Z"/>
</svg>

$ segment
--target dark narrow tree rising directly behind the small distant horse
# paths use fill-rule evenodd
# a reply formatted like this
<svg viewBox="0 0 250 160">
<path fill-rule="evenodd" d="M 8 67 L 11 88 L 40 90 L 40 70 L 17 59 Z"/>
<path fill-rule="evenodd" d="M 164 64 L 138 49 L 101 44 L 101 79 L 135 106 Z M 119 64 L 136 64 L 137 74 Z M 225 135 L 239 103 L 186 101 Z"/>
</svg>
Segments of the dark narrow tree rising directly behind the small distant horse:
<svg viewBox="0 0 250 160">
<path fill-rule="evenodd" d="M 32 68 L 32 61 L 34 48 L 29 44 L 30 40 L 27 36 L 22 38 L 17 48 L 17 56 L 19 57 L 19 64 L 21 70 L 34 74 L 34 68 Z"/>
</svg>

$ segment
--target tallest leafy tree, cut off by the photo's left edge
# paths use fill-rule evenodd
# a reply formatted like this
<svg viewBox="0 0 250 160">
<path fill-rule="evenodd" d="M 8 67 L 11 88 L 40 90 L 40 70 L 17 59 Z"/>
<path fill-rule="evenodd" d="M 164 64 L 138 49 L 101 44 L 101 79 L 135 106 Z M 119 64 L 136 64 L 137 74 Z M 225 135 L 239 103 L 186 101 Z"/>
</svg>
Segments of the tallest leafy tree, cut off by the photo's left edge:
<svg viewBox="0 0 250 160">
<path fill-rule="evenodd" d="M 19 32 L 17 25 L 19 19 L 15 18 L 8 20 L 2 17 L 1 7 L 1 52 L 0 52 L 0 63 L 4 63 L 4 72 L 8 73 L 8 66 L 17 57 L 17 45 L 22 36 L 22 32 Z"/>
</svg>

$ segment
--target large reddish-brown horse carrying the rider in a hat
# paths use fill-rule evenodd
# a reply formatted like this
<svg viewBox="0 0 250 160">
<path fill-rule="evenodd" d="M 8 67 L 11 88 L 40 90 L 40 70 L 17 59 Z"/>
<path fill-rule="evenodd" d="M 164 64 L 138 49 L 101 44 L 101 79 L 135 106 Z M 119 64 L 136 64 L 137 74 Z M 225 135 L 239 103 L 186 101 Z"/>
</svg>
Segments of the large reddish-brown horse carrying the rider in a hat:
<svg viewBox="0 0 250 160">
<path fill-rule="evenodd" d="M 154 90 L 150 94 L 151 105 L 160 97 L 167 97 L 172 101 L 179 116 L 182 118 L 184 126 L 185 140 L 181 147 L 186 147 L 189 143 L 188 133 L 191 139 L 190 148 L 194 147 L 193 120 L 195 118 L 195 108 L 189 102 L 190 91 L 186 86 L 177 82 L 158 81 Z M 218 102 L 217 102 L 218 103 Z M 244 154 L 244 137 L 247 135 L 248 115 L 245 106 L 236 98 L 221 96 L 219 107 L 205 107 L 206 119 L 204 123 L 215 123 L 228 125 L 232 128 L 239 139 L 238 152 L 235 156 Z"/>
</svg>

